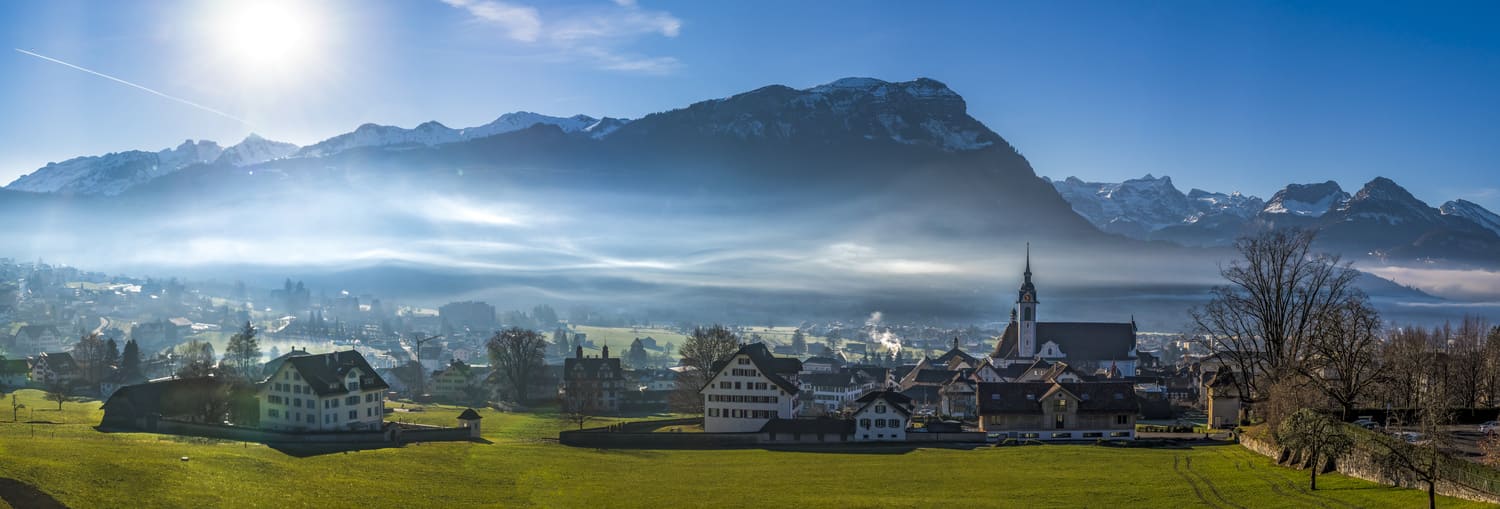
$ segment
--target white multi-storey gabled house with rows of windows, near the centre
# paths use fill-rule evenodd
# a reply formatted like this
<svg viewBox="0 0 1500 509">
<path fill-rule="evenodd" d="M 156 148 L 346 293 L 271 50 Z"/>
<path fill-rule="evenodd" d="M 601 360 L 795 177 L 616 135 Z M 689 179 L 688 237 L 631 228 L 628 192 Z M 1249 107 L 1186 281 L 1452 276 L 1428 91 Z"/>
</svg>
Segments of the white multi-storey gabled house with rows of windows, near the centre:
<svg viewBox="0 0 1500 509">
<path fill-rule="evenodd" d="M 771 356 L 764 342 L 740 347 L 714 363 L 708 384 L 699 389 L 704 431 L 756 432 L 771 419 L 795 419 L 802 410 L 801 369 L 796 359 Z"/>
</svg>

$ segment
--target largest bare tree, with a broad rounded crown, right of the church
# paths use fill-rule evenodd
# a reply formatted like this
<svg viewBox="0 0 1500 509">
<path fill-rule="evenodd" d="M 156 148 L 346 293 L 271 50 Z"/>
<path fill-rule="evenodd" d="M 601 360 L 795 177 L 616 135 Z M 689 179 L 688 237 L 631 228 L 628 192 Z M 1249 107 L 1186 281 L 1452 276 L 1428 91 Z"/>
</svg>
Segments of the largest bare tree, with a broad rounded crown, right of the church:
<svg viewBox="0 0 1500 509">
<path fill-rule="evenodd" d="M 1191 315 L 1198 341 L 1234 372 L 1246 404 L 1270 384 L 1305 372 L 1322 320 L 1359 299 L 1359 272 L 1336 255 L 1314 254 L 1314 233 L 1270 230 L 1234 242 L 1242 260 L 1221 267 L 1228 282 Z"/>
</svg>

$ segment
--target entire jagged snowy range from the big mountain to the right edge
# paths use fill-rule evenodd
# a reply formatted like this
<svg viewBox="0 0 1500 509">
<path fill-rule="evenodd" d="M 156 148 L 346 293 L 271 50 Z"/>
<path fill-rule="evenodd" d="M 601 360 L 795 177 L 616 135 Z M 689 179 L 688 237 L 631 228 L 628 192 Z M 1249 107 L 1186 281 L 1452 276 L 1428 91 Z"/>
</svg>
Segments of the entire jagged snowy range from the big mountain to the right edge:
<svg viewBox="0 0 1500 509">
<path fill-rule="evenodd" d="M 1300 227 L 1318 230 L 1323 246 L 1356 258 L 1486 267 L 1500 260 L 1500 216 L 1464 200 L 1434 209 L 1384 177 L 1354 194 L 1332 180 L 1293 183 L 1270 200 L 1184 194 L 1170 177 L 1149 174 L 1120 183 L 1048 182 L 1095 227 L 1131 239 L 1224 246 L 1257 230 Z"/>
</svg>

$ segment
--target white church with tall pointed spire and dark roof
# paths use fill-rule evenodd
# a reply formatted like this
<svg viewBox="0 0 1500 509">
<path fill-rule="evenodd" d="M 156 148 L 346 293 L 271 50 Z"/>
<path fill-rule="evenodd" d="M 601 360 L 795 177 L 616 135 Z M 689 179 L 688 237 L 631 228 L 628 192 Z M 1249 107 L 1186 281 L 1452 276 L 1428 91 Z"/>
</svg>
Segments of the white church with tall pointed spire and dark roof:
<svg viewBox="0 0 1500 509">
<path fill-rule="evenodd" d="M 990 363 L 996 368 L 1064 362 L 1084 374 L 1136 375 L 1136 320 L 1128 323 L 1036 321 L 1036 285 L 1030 281 L 1030 246 L 1026 246 L 1024 281 Z"/>
</svg>

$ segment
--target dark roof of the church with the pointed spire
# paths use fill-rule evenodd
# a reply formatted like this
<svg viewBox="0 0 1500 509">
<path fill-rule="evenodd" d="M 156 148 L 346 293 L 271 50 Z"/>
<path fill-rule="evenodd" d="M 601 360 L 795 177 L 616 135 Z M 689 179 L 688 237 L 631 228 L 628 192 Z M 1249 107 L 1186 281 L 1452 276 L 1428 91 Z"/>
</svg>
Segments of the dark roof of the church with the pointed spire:
<svg viewBox="0 0 1500 509">
<path fill-rule="evenodd" d="M 1065 359 L 1128 360 L 1136 350 L 1136 324 L 1095 321 L 1038 321 L 1036 348 L 1048 341 L 1058 344 Z M 1017 323 L 1011 321 L 994 344 L 992 357 L 1018 359 Z"/>
</svg>

